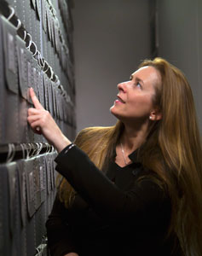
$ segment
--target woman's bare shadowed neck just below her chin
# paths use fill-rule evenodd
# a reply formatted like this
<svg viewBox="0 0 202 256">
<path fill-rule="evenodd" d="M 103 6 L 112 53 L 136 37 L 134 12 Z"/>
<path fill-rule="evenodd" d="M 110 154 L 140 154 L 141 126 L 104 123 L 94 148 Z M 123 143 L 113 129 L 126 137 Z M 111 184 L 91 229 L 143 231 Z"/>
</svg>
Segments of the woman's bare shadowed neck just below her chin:
<svg viewBox="0 0 202 256">
<path fill-rule="evenodd" d="M 121 143 L 124 145 L 124 150 L 133 152 L 136 148 L 140 148 L 147 137 L 147 124 L 142 125 L 127 125 L 124 124 L 124 131 L 121 136 Z"/>
</svg>

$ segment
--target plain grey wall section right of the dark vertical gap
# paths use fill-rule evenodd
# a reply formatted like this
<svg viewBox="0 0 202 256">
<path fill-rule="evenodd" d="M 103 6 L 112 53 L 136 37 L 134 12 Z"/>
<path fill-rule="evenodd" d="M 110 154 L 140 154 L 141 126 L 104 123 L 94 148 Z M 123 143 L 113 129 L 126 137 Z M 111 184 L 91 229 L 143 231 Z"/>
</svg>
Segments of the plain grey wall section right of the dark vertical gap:
<svg viewBox="0 0 202 256">
<path fill-rule="evenodd" d="M 159 0 L 159 55 L 188 78 L 202 131 L 202 1 Z M 191 124 L 190 124 L 191 125 Z"/>
</svg>

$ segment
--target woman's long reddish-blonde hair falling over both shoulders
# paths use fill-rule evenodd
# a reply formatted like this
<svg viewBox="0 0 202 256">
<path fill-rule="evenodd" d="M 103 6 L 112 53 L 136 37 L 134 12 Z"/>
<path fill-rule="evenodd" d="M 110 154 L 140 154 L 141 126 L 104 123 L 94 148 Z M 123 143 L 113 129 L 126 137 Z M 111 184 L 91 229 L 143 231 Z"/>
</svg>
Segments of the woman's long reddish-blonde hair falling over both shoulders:
<svg viewBox="0 0 202 256">
<path fill-rule="evenodd" d="M 202 149 L 192 90 L 183 73 L 168 61 L 155 58 L 143 61 L 140 67 L 144 66 L 152 66 L 160 73 L 161 83 L 155 85 L 153 104 L 162 119 L 150 124 L 147 142 L 141 148 L 141 162 L 158 177 L 154 181 L 169 191 L 172 213 L 168 234 L 176 233 L 186 256 L 200 256 Z M 75 143 L 104 171 L 123 130 L 120 121 L 112 127 L 86 128 Z M 66 207 L 74 194 L 63 178 L 59 195 Z"/>
</svg>

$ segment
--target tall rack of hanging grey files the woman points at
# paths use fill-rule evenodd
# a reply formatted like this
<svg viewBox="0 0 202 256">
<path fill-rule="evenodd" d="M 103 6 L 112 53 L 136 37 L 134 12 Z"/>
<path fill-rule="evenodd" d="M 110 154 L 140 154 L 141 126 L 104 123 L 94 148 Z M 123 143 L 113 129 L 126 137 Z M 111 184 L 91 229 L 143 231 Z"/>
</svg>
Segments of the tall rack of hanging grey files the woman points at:
<svg viewBox="0 0 202 256">
<path fill-rule="evenodd" d="M 0 1 L 0 256 L 48 255 L 56 152 L 27 124 L 31 86 L 75 137 L 69 1 Z"/>
</svg>

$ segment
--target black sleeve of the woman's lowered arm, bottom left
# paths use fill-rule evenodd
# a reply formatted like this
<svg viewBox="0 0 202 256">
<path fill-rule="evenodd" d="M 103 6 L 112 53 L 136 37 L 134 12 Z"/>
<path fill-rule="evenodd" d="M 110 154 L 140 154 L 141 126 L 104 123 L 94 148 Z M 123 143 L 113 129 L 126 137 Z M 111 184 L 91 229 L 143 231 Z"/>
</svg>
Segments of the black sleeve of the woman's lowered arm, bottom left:
<svg viewBox="0 0 202 256">
<path fill-rule="evenodd" d="M 50 256 L 63 256 L 66 253 L 78 253 L 72 239 L 72 232 L 66 223 L 66 208 L 58 196 L 46 222 Z"/>
</svg>

